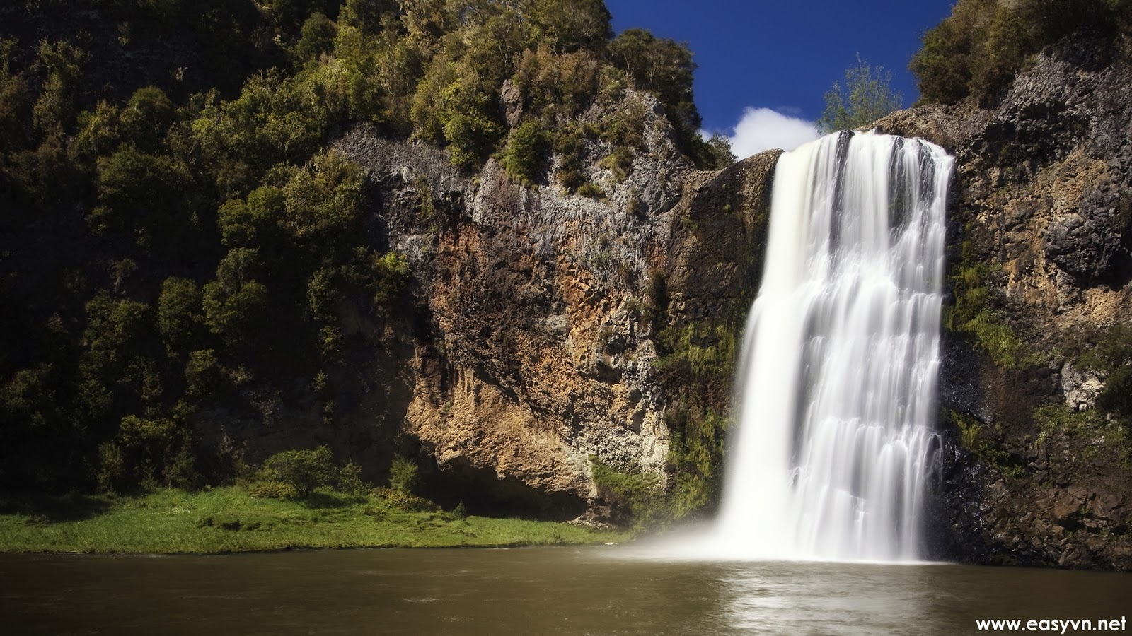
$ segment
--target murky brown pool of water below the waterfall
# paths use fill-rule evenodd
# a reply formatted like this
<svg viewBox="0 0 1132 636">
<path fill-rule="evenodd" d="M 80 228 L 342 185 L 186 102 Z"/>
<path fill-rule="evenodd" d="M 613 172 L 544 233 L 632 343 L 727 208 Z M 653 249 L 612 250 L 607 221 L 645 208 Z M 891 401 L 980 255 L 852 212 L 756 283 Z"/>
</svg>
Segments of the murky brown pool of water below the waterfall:
<svg viewBox="0 0 1132 636">
<path fill-rule="evenodd" d="M 952 635 L 977 618 L 1132 619 L 1126 574 L 618 555 L 0 555 L 0 634 Z"/>
</svg>

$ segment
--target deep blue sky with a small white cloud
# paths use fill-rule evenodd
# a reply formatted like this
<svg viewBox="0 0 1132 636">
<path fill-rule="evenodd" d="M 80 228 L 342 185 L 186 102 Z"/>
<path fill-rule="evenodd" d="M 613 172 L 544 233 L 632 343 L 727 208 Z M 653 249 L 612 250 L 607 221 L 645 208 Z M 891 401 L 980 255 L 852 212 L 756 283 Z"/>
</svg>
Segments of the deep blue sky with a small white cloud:
<svg viewBox="0 0 1132 636">
<path fill-rule="evenodd" d="M 821 117 L 825 92 L 857 53 L 891 70 L 892 88 L 911 105 L 917 93 L 908 61 L 920 35 L 950 15 L 953 3 L 606 0 L 618 33 L 641 27 L 688 43 L 698 65 L 696 105 L 704 129 L 731 136 L 740 158 L 744 148 L 805 141 L 806 123 Z"/>
</svg>

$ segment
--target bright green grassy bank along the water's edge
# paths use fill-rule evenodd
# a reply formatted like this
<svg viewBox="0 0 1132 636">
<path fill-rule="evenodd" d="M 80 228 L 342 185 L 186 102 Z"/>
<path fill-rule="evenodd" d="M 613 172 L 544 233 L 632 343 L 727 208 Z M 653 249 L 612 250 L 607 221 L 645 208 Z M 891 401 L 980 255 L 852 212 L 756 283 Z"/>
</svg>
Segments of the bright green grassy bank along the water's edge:
<svg viewBox="0 0 1132 636">
<path fill-rule="evenodd" d="M 254 499 L 239 488 L 83 498 L 0 513 L 0 551 L 233 552 L 283 548 L 546 545 L 621 541 L 624 533 L 550 522 L 405 513 L 374 497 Z"/>
</svg>

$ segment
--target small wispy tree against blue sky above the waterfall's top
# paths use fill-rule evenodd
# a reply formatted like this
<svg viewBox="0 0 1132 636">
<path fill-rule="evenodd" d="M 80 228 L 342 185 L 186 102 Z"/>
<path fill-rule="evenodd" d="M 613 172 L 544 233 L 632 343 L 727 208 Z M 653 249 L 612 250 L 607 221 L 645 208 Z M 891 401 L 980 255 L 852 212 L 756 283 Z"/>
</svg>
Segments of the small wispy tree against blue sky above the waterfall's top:
<svg viewBox="0 0 1132 636">
<path fill-rule="evenodd" d="M 857 63 L 846 70 L 846 83 L 834 81 L 825 93 L 825 112 L 817 121 L 825 132 L 852 130 L 873 123 L 903 108 L 903 95 L 889 87 L 892 71 L 873 67 L 857 54 Z"/>
</svg>

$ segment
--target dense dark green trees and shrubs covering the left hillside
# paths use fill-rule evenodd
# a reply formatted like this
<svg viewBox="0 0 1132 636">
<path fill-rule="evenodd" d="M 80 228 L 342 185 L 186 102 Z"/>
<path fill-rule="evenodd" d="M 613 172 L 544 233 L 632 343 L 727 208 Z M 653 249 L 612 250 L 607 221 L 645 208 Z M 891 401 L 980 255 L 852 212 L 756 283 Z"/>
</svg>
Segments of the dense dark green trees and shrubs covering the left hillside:
<svg viewBox="0 0 1132 636">
<path fill-rule="evenodd" d="M 689 156 L 726 161 L 698 137 L 693 68 L 676 42 L 612 37 L 601 0 L 9 3 L 0 485 L 194 488 L 242 470 L 201 454 L 205 414 L 258 422 L 282 401 L 341 418 L 362 387 L 340 310 L 381 324 L 410 302 L 367 175 L 327 149 L 348 127 L 600 194 L 576 149 L 598 140 L 631 170 L 644 94 Z"/>
</svg>

